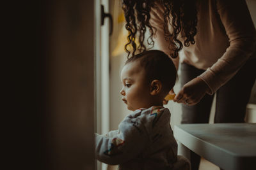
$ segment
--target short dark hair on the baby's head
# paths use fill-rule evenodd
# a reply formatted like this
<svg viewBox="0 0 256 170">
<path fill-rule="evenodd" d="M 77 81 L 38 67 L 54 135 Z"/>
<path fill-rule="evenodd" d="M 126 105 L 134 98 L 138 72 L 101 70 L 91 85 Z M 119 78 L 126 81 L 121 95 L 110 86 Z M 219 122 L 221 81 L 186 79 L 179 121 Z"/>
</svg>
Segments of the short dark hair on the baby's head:
<svg viewBox="0 0 256 170">
<path fill-rule="evenodd" d="M 125 64 L 140 61 L 145 69 L 148 82 L 159 80 L 163 83 L 163 89 L 169 92 L 175 85 L 177 70 L 172 59 L 160 50 L 148 50 L 130 57 Z"/>
</svg>

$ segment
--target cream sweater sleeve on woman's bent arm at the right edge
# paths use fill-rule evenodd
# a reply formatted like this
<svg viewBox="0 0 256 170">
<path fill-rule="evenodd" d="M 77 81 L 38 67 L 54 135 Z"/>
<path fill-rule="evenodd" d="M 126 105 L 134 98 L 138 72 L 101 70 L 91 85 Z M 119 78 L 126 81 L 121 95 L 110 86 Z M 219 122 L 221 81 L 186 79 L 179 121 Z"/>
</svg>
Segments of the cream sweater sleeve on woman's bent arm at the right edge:
<svg viewBox="0 0 256 170">
<path fill-rule="evenodd" d="M 256 33 L 244 0 L 217 0 L 216 7 L 230 41 L 230 46 L 218 61 L 199 77 L 213 94 L 227 83 L 255 50 Z"/>
</svg>

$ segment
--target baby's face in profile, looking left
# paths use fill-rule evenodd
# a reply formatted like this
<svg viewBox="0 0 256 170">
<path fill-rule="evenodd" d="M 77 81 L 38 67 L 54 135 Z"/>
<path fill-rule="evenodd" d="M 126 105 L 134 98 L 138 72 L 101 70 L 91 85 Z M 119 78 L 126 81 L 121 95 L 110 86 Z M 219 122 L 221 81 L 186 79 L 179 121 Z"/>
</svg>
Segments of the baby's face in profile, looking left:
<svg viewBox="0 0 256 170">
<path fill-rule="evenodd" d="M 150 85 L 145 77 L 145 70 L 140 66 L 140 62 L 134 61 L 125 64 L 121 72 L 121 81 L 123 88 L 120 94 L 122 94 L 122 100 L 127 104 L 128 110 L 150 108 L 152 104 Z"/>
</svg>

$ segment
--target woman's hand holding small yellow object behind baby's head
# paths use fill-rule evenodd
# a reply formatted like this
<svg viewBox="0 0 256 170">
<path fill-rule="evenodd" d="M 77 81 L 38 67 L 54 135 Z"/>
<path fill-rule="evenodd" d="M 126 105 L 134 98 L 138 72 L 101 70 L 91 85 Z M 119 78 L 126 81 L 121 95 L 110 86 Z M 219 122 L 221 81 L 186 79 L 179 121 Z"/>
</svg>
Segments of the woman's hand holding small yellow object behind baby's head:
<svg viewBox="0 0 256 170">
<path fill-rule="evenodd" d="M 201 78 L 196 77 L 182 87 L 173 101 L 193 106 L 198 103 L 209 90 L 208 85 Z"/>
</svg>

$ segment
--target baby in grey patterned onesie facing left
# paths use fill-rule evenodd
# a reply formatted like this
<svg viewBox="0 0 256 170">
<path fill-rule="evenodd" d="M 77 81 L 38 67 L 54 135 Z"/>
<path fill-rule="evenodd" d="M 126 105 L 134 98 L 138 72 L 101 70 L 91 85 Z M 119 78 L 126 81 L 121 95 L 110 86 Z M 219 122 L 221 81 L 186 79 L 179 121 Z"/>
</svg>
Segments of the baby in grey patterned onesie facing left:
<svg viewBox="0 0 256 170">
<path fill-rule="evenodd" d="M 190 169 L 177 156 L 177 142 L 170 126 L 164 97 L 175 85 L 177 71 L 172 60 L 159 50 L 134 55 L 122 69 L 122 100 L 133 111 L 106 135 L 95 134 L 100 162 L 129 169 Z"/>
</svg>

